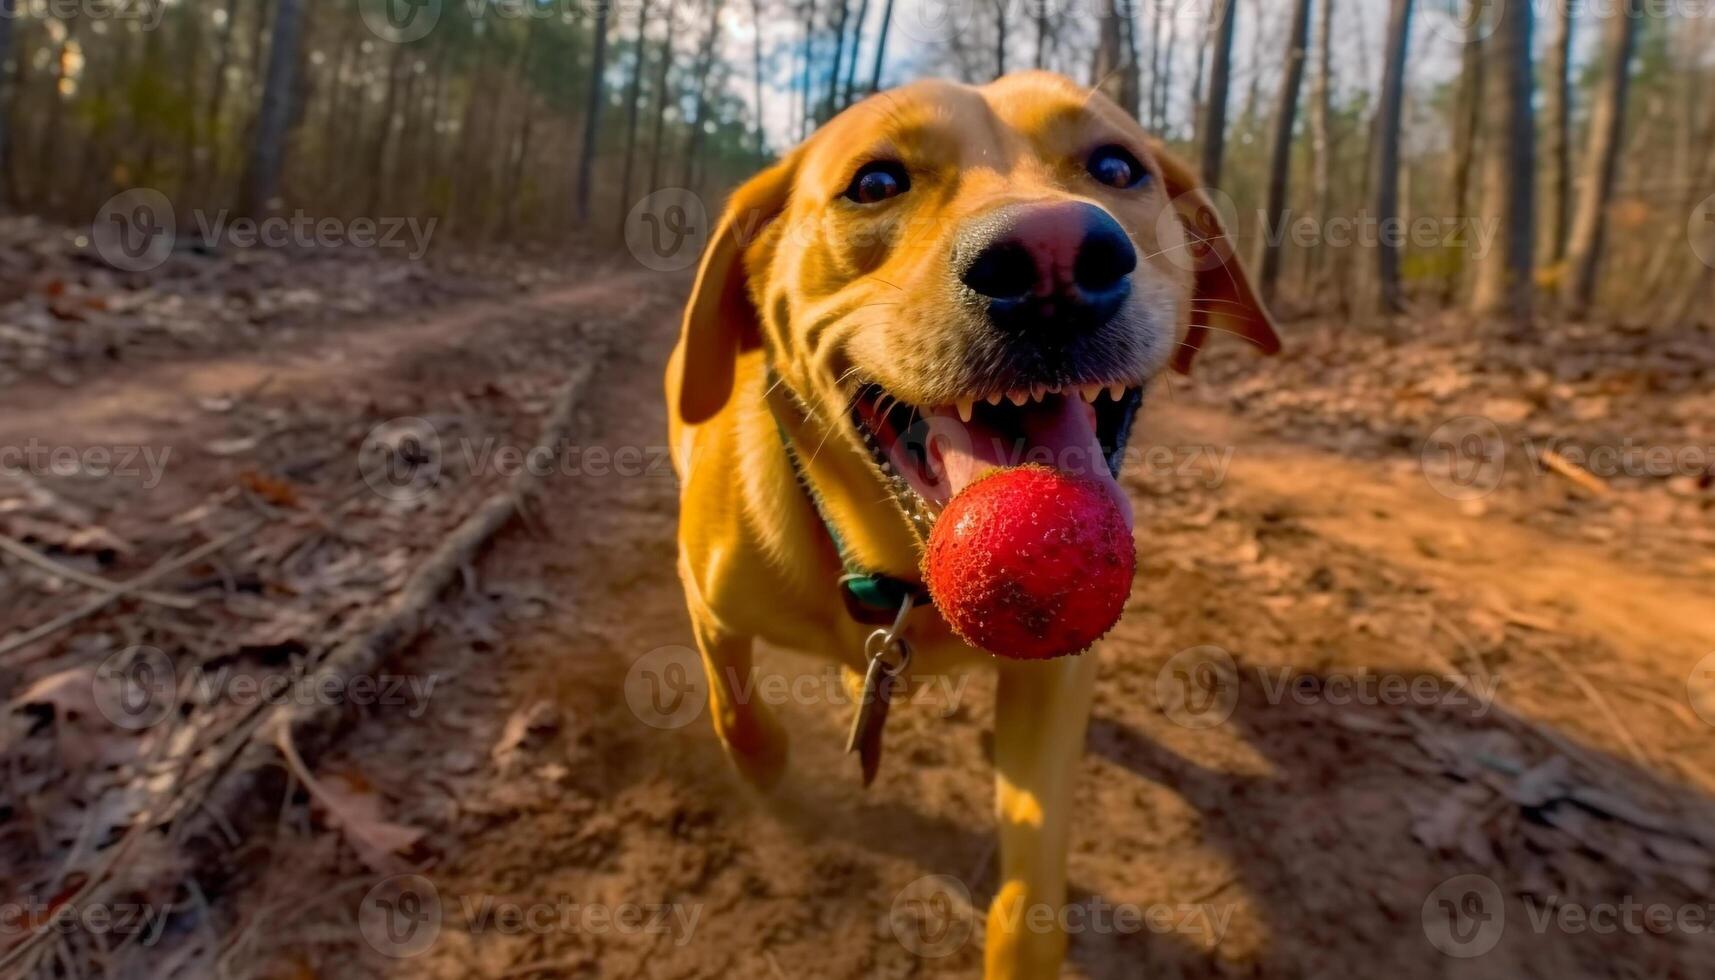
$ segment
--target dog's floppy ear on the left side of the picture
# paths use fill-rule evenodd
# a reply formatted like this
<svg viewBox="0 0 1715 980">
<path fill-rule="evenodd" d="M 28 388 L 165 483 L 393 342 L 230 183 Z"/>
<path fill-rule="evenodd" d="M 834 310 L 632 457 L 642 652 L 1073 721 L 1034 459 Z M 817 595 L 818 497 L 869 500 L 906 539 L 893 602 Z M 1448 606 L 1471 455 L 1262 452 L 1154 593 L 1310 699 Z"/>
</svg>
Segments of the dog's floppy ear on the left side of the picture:
<svg viewBox="0 0 1715 980">
<path fill-rule="evenodd" d="M 761 343 L 746 256 L 785 209 L 796 172 L 794 153 L 751 177 L 727 199 L 708 239 L 679 336 L 679 419 L 688 426 L 707 422 L 725 407 L 739 352 Z"/>
</svg>

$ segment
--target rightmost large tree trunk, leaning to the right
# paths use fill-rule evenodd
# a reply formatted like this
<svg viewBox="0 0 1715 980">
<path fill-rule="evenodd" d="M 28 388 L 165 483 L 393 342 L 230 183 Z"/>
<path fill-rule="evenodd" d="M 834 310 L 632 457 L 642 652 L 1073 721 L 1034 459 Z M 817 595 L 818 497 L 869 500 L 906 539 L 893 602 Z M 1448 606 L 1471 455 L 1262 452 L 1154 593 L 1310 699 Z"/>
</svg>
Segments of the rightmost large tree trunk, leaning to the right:
<svg viewBox="0 0 1715 980">
<path fill-rule="evenodd" d="M 1631 82 L 1631 53 L 1638 45 L 1638 0 L 1629 0 L 1609 21 L 1607 79 L 1590 113 L 1590 148 L 1585 184 L 1578 194 L 1578 218 L 1568 242 L 1566 300 L 1574 314 L 1590 309 L 1602 268 L 1607 239 L 1607 206 L 1619 175 L 1619 156 L 1626 134 L 1626 91 Z"/>
</svg>

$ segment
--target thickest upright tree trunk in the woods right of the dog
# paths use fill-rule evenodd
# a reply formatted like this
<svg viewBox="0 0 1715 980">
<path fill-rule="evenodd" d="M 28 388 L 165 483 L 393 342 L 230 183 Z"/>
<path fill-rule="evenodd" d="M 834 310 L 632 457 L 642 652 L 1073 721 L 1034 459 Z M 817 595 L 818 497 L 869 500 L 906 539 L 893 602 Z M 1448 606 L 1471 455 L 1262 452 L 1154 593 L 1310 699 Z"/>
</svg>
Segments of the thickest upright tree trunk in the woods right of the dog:
<svg viewBox="0 0 1715 980">
<path fill-rule="evenodd" d="M 1483 161 L 1483 220 L 1497 232 L 1497 249 L 1477 268 L 1471 309 L 1509 318 L 1519 331 L 1530 328 L 1531 252 L 1537 227 L 1533 177 L 1537 122 L 1531 108 L 1530 36 L 1531 5 L 1495 5 L 1495 29 L 1487 43 L 1489 105 Z"/>
</svg>

